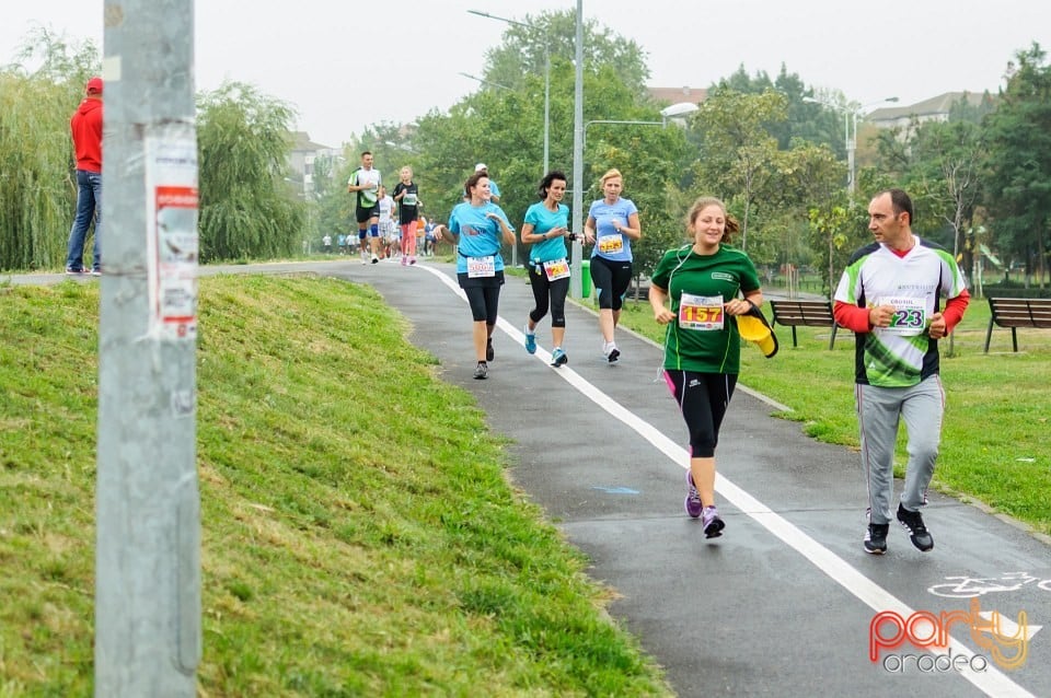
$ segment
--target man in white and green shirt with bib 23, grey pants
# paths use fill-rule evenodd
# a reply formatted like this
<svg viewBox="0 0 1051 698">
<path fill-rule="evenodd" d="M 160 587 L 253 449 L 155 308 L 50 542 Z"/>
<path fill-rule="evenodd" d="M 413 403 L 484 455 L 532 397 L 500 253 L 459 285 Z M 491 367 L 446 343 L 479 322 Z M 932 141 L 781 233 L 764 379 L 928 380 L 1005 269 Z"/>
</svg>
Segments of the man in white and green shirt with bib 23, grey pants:
<svg viewBox="0 0 1051 698">
<path fill-rule="evenodd" d="M 851 257 L 835 291 L 835 321 L 855 334 L 855 398 L 868 485 L 865 550 L 887 550 L 898 422 L 909 463 L 897 519 L 926 552 L 934 539 L 920 515 L 942 439 L 945 392 L 938 339 L 962 319 L 970 295 L 952 255 L 912 232 L 909 195 L 889 189 L 868 206 L 876 242 Z M 947 299 L 944 309 L 940 299 Z"/>
</svg>

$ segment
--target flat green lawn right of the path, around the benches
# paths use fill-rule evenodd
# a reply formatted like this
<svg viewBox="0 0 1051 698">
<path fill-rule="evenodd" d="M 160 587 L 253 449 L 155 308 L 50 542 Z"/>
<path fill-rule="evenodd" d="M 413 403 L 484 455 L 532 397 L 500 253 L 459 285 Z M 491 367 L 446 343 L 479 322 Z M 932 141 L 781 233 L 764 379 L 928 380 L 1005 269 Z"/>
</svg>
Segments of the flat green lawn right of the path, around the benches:
<svg viewBox="0 0 1051 698">
<path fill-rule="evenodd" d="M 764 309 L 770 317 L 769 304 Z M 622 325 L 658 342 L 663 328 L 649 304 L 628 302 Z M 983 353 L 989 303 L 972 300 L 949 342 L 942 348 L 946 415 L 935 484 L 961 499 L 975 499 L 1051 534 L 1051 331 L 1019 329 L 1020 351 L 1010 350 L 1010 330 L 993 328 L 990 353 Z M 741 383 L 772 397 L 790 411 L 778 416 L 801 422 L 802 430 L 829 443 L 857 447 L 854 409 L 854 337 L 841 330 L 829 351 L 829 330 L 777 326 L 781 349 L 765 359 L 755 347 L 741 352 Z M 906 461 L 901 429 L 896 472 Z"/>
</svg>

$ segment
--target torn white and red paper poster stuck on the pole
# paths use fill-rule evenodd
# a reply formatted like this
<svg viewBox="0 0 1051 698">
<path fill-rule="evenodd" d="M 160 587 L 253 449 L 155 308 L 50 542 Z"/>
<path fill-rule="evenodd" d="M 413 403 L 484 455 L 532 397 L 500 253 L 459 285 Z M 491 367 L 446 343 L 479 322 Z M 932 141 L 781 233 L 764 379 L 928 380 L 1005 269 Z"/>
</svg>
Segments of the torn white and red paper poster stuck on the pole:
<svg viewBox="0 0 1051 698">
<path fill-rule="evenodd" d="M 197 143 L 193 135 L 146 138 L 150 334 L 197 338 Z"/>
</svg>

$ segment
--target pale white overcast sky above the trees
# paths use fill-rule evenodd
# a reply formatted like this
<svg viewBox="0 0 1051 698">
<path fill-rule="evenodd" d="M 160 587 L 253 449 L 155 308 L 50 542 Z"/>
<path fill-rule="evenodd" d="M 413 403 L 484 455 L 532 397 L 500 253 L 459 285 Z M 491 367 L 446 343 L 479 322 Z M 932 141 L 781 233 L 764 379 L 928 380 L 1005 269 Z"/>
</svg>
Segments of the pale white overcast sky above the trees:
<svg viewBox="0 0 1051 698">
<path fill-rule="evenodd" d="M 0 61 L 34 25 L 103 45 L 102 0 L 14 0 Z M 366 126 L 447 109 L 478 88 L 485 51 L 516 20 L 575 0 L 203 0 L 196 3 L 198 90 L 255 84 L 290 103 L 314 141 L 339 146 Z M 949 91 L 995 92 L 1033 40 L 1051 49 L 1046 0 L 584 0 L 584 14 L 637 42 L 652 86 L 706 88 L 741 65 L 781 65 L 861 104 L 905 105 Z M 585 95 L 587 98 L 587 95 Z"/>
</svg>

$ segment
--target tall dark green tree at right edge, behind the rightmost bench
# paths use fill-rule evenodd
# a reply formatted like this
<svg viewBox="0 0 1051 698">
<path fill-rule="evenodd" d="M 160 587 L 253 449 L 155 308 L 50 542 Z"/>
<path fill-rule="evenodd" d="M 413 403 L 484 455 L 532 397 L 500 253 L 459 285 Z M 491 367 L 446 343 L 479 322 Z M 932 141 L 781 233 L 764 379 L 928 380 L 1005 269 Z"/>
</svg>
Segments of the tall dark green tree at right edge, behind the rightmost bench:
<svg viewBox="0 0 1051 698">
<path fill-rule="evenodd" d="M 1051 68 L 1039 44 L 1008 66 L 1000 106 L 986 120 L 985 202 L 997 246 L 1038 272 L 1042 286 L 1051 223 Z"/>
</svg>

